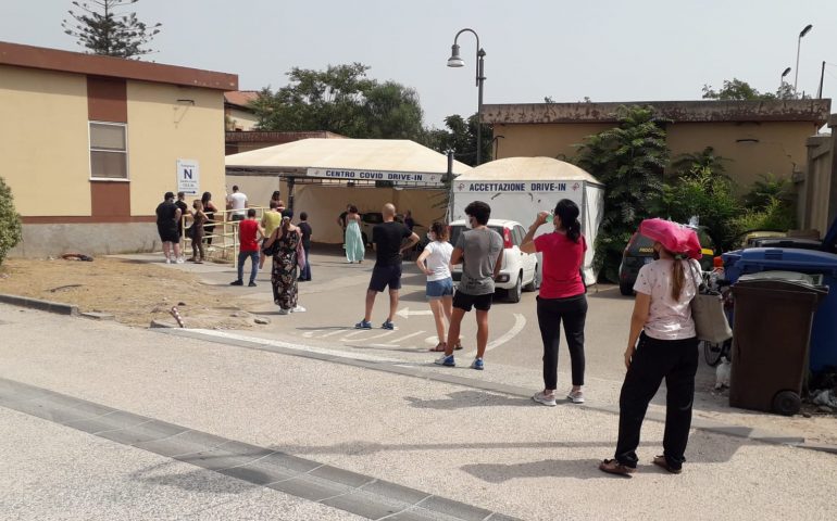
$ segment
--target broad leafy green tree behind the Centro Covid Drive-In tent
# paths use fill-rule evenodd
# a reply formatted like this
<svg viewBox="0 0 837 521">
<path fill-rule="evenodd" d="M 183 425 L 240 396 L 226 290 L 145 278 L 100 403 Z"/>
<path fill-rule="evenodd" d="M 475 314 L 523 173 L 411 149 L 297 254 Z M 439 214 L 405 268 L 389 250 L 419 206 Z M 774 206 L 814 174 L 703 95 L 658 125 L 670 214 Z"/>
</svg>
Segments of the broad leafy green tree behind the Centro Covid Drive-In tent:
<svg viewBox="0 0 837 521">
<path fill-rule="evenodd" d="M 349 138 L 414 139 L 424 134 L 414 89 L 366 77 L 361 63 L 325 71 L 293 67 L 289 84 L 264 88 L 251 104 L 259 130 L 326 130 Z"/>
</svg>

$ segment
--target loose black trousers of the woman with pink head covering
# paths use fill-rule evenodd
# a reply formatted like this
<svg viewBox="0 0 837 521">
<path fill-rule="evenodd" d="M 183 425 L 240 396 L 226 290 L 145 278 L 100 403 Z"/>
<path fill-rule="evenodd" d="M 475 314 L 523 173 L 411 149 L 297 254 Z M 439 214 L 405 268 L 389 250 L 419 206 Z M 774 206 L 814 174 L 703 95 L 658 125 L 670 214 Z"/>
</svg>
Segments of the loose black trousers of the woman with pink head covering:
<svg viewBox="0 0 837 521">
<path fill-rule="evenodd" d="M 695 373 L 698 371 L 698 339 L 657 340 L 639 336 L 637 351 L 622 384 L 619 397 L 619 442 L 616 460 L 636 468 L 639 431 L 648 404 L 665 378 L 665 433 L 663 455 L 669 465 L 679 469 L 686 460 L 691 405 L 695 399 Z"/>
</svg>

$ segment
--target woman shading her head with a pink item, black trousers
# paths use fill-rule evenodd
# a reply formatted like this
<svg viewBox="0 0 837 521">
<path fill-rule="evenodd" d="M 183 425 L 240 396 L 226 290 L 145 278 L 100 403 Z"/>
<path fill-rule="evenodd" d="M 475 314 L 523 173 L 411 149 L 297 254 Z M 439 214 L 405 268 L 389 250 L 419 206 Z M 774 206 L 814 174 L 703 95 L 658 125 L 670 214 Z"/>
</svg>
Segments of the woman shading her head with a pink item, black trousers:
<svg viewBox="0 0 837 521">
<path fill-rule="evenodd" d="M 639 232 L 654 240 L 655 260 L 642 266 L 634 284 L 636 302 L 625 351 L 627 374 L 620 394 L 619 441 L 604 472 L 636 471 L 639 431 L 648 404 L 665 379 L 663 454 L 653 463 L 679 474 L 689 441 L 698 339 L 691 300 L 701 282 L 700 243 L 694 230 L 663 219 L 647 219 Z"/>
</svg>

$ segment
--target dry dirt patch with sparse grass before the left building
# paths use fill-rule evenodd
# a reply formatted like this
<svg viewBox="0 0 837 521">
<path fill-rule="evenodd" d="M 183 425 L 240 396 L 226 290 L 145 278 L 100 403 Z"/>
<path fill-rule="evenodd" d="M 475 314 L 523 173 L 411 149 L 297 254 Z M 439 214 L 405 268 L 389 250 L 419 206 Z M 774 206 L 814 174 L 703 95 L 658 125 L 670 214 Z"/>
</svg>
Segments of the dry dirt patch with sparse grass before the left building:
<svg viewBox="0 0 837 521">
<path fill-rule="evenodd" d="M 186 327 L 248 329 L 253 317 L 235 295 L 202 284 L 193 274 L 111 257 L 84 260 L 7 259 L 0 267 L 0 293 L 75 304 L 80 312 L 114 315 L 148 327 L 174 321 L 177 306 Z"/>
</svg>

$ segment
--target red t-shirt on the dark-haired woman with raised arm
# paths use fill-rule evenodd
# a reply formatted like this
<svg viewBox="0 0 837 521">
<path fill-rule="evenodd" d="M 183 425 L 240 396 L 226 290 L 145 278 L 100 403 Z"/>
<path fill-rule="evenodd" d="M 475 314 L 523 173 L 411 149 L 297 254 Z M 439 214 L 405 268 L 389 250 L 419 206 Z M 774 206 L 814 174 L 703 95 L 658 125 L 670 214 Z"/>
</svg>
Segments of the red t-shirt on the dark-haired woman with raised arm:
<svg viewBox="0 0 837 521">
<path fill-rule="evenodd" d="M 544 233 L 535 239 L 535 249 L 544 255 L 541 298 L 565 298 L 584 293 L 580 268 L 587 241 L 584 236 L 573 242 L 559 232 Z"/>
</svg>

